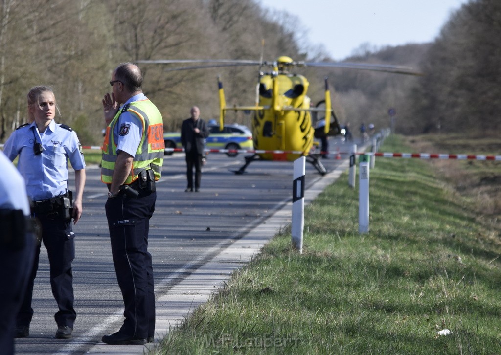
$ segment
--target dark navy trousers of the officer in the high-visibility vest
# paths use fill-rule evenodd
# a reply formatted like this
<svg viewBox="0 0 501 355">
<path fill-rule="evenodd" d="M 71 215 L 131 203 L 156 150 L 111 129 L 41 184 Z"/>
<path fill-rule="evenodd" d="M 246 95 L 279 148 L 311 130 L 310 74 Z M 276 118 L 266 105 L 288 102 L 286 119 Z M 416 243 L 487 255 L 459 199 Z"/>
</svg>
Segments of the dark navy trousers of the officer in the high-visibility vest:
<svg viewBox="0 0 501 355">
<path fill-rule="evenodd" d="M 149 220 L 155 201 L 156 192 L 142 189 L 137 198 L 120 193 L 108 198 L 105 205 L 113 264 L 125 306 L 119 332 L 141 339 L 155 334 L 153 267 L 148 252 Z"/>
</svg>

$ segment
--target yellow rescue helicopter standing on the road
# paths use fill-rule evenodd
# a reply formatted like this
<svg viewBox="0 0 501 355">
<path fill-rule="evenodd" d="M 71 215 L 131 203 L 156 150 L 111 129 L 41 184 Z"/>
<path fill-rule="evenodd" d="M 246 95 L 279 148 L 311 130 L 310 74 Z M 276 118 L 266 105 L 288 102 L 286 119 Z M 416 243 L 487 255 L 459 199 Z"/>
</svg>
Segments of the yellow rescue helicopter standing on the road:
<svg viewBox="0 0 501 355">
<path fill-rule="evenodd" d="M 322 153 L 312 153 L 314 136 L 334 136 L 341 132 L 339 122 L 331 105 L 331 94 L 327 78 L 325 79 L 325 98 L 313 105 L 307 96 L 309 82 L 298 74 L 291 74 L 294 67 L 337 67 L 382 71 L 399 74 L 419 75 L 412 68 L 391 65 L 360 64 L 347 62 L 295 62 L 292 58 L 281 56 L 274 62 L 253 60 L 144 60 L 145 64 L 187 64 L 166 71 L 192 70 L 226 66 L 260 66 L 259 82 L 256 87 L 256 103 L 250 106 L 227 106 L 223 86 L 218 77 L 219 124 L 224 126 L 227 111 L 254 111 L 252 132 L 255 153 L 245 157 L 245 164 L 234 171 L 242 174 L 245 168 L 256 160 L 294 161 L 301 156 L 324 175 L 326 168 L 320 160 Z M 262 67 L 271 71 L 264 73 Z M 313 120 L 312 120 L 313 118 Z M 330 119 L 326 119 L 330 118 Z M 315 123 L 325 120 L 323 128 L 315 130 Z"/>
</svg>

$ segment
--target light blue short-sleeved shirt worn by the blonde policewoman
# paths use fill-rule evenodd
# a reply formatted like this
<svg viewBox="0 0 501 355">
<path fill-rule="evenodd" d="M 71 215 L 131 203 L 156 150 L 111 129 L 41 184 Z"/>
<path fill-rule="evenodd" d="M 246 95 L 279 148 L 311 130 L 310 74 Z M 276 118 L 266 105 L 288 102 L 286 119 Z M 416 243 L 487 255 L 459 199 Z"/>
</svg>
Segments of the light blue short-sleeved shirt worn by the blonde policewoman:
<svg viewBox="0 0 501 355">
<path fill-rule="evenodd" d="M 36 143 L 42 143 L 42 154 L 35 155 Z M 19 127 L 5 143 L 4 152 L 11 161 L 19 155 L 18 170 L 33 201 L 46 200 L 69 190 L 68 158 L 73 169 L 85 168 L 77 134 L 60 127 L 54 120 L 42 134 L 35 122 Z"/>
</svg>

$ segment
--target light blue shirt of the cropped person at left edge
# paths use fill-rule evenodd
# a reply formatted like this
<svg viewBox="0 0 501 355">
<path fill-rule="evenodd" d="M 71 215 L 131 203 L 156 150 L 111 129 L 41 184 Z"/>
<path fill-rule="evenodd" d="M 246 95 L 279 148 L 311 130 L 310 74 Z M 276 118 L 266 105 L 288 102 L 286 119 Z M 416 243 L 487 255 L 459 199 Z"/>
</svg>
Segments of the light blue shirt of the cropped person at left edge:
<svg viewBox="0 0 501 355">
<path fill-rule="evenodd" d="M 14 164 L 0 150 L 0 208 L 23 210 L 30 215 L 30 202 L 26 194 L 25 180 Z"/>
</svg>

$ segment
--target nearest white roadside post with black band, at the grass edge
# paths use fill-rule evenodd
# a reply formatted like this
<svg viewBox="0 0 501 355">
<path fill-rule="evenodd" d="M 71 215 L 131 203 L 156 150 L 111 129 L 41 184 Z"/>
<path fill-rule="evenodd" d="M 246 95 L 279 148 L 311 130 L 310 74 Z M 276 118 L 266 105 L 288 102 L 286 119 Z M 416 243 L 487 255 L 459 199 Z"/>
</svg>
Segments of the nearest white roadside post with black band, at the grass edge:
<svg viewBox="0 0 501 355">
<path fill-rule="evenodd" d="M 303 253 L 303 228 L 305 226 L 305 166 L 306 158 L 294 161 L 292 188 L 292 244 Z"/>
</svg>

